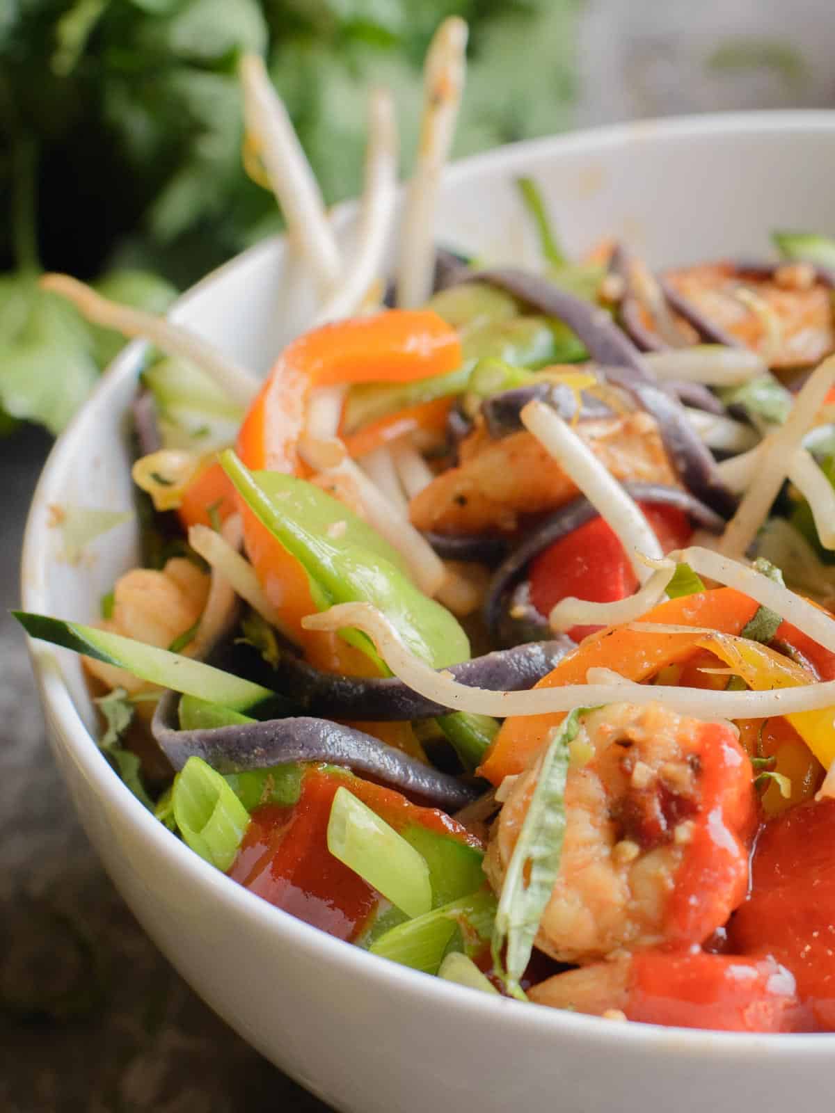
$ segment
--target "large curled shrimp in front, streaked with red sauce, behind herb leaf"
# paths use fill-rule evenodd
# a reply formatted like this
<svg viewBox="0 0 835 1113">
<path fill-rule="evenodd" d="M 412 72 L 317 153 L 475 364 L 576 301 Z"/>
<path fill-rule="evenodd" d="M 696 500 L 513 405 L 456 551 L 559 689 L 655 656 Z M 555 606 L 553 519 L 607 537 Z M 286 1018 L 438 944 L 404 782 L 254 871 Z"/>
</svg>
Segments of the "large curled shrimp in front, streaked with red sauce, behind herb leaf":
<svg viewBox="0 0 835 1113">
<path fill-rule="evenodd" d="M 657 703 L 590 713 L 569 770 L 560 873 L 536 945 L 560 962 L 704 942 L 745 898 L 752 766 L 729 723 Z M 577 750 L 576 750 L 577 752 Z M 501 889 L 541 757 L 513 782 L 485 860 Z"/>
</svg>

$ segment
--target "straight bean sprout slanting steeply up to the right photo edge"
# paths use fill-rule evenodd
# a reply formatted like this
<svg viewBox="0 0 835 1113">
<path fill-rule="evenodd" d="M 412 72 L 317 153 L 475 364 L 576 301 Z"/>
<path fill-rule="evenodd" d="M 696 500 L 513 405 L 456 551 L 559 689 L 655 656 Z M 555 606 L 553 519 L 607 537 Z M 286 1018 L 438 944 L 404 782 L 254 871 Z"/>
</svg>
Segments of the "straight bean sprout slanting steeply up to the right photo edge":
<svg viewBox="0 0 835 1113">
<path fill-rule="evenodd" d="M 768 516 L 795 453 L 814 424 L 834 378 L 835 356 L 829 356 L 809 375 L 785 425 L 768 437 L 768 452 L 759 456 L 750 486 L 720 539 L 721 552 L 741 556 L 748 549 Z"/>
</svg>

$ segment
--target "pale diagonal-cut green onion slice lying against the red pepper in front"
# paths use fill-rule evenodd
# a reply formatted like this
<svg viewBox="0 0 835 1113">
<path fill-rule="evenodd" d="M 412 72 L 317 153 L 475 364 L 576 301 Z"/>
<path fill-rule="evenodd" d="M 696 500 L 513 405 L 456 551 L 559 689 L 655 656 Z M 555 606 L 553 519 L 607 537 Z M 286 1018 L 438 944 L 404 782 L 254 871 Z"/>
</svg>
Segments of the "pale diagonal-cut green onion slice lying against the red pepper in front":
<svg viewBox="0 0 835 1113">
<path fill-rule="evenodd" d="M 406 916 L 432 907 L 423 855 L 346 788 L 337 788 L 333 798 L 327 849 Z"/>
</svg>

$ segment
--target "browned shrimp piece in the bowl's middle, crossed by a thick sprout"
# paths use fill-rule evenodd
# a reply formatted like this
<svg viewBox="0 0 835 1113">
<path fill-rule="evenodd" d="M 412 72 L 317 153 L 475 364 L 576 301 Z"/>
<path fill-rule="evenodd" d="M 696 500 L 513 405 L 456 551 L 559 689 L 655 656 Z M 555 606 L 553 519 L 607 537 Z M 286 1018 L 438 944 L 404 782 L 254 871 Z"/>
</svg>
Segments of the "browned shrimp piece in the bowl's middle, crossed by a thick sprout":
<svg viewBox="0 0 835 1113">
<path fill-rule="evenodd" d="M 677 484 L 646 413 L 580 422 L 578 434 L 618 480 Z M 477 430 L 461 445 L 461 464 L 436 476 L 410 503 L 419 530 L 511 532 L 519 516 L 556 510 L 578 494 L 573 482 L 531 433 L 499 441 Z"/>
</svg>

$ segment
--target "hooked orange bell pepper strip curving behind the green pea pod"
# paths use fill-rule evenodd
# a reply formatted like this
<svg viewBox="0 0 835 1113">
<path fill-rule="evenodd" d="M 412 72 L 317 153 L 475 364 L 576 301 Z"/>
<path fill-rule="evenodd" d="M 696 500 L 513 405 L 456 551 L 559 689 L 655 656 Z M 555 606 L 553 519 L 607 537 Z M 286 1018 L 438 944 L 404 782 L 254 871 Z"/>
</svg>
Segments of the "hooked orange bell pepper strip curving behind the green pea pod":
<svg viewBox="0 0 835 1113">
<path fill-rule="evenodd" d="M 240 426 L 237 453 L 254 471 L 301 471 L 296 451 L 312 390 L 338 383 L 406 383 L 452 371 L 461 363 L 458 334 L 428 309 L 389 309 L 299 336 L 285 348 Z M 249 560 L 272 604 L 316 668 L 352 676 L 374 666 L 337 634 L 303 630 L 315 611 L 307 575 L 295 559 L 237 500 Z"/>
</svg>

